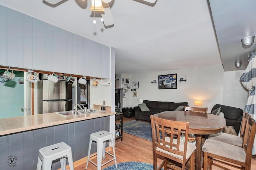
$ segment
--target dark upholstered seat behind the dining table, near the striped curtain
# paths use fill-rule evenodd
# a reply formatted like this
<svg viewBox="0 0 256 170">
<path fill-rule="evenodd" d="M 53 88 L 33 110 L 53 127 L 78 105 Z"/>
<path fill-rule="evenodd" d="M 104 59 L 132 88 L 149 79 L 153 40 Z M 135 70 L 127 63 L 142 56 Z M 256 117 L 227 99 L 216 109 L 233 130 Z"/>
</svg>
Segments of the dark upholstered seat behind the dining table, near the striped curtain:
<svg viewBox="0 0 256 170">
<path fill-rule="evenodd" d="M 238 134 L 244 111 L 237 107 L 225 106 L 221 104 L 214 105 L 212 107 L 212 111 L 219 107 L 221 107 L 220 111 L 224 113 L 224 117 L 226 119 L 226 126 L 233 126 L 236 133 Z"/>
</svg>

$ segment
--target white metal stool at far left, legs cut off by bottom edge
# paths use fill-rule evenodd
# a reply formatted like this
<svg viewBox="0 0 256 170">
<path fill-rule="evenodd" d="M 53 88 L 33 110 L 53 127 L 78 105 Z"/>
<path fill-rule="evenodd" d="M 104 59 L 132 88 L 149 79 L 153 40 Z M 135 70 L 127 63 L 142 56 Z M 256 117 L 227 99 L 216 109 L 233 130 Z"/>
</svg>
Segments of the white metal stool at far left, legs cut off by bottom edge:
<svg viewBox="0 0 256 170">
<path fill-rule="evenodd" d="M 66 157 L 68 158 L 68 164 L 70 170 L 74 170 L 72 150 L 66 143 L 56 143 L 48 147 L 39 149 L 37 170 L 50 170 L 52 167 L 52 161 L 60 159 L 60 165 L 62 170 L 66 170 Z"/>
</svg>

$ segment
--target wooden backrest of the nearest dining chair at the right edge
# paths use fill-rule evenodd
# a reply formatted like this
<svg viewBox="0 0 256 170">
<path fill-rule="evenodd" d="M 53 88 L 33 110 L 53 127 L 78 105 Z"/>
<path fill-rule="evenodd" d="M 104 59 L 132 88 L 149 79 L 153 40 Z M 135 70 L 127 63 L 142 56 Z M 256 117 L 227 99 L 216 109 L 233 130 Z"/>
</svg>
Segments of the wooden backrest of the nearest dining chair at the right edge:
<svg viewBox="0 0 256 170">
<path fill-rule="evenodd" d="M 256 133 L 256 121 L 249 117 L 244 131 L 244 144 L 243 149 L 246 152 L 245 164 L 251 164 L 252 161 L 252 148 Z"/>
</svg>

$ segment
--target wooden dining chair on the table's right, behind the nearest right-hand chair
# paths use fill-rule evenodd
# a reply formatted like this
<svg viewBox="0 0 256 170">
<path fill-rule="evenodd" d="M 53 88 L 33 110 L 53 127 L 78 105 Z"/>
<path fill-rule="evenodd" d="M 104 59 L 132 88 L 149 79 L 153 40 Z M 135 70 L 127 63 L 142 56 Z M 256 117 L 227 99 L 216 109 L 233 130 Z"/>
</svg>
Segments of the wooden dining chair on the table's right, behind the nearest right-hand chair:
<svg viewBox="0 0 256 170">
<path fill-rule="evenodd" d="M 242 147 L 243 142 L 244 142 L 245 126 L 246 126 L 246 122 L 247 122 L 249 117 L 251 117 L 251 115 L 248 112 L 243 113 L 240 136 L 231 135 L 231 134 L 228 134 L 228 133 L 221 132 L 221 133 L 209 135 L 208 139 L 213 139 L 213 140 L 216 140 L 216 141 L 221 141 L 221 142 L 224 142 L 224 143 L 228 143 L 228 144 L 231 144 L 231 145 L 236 145 L 238 147 Z"/>
</svg>

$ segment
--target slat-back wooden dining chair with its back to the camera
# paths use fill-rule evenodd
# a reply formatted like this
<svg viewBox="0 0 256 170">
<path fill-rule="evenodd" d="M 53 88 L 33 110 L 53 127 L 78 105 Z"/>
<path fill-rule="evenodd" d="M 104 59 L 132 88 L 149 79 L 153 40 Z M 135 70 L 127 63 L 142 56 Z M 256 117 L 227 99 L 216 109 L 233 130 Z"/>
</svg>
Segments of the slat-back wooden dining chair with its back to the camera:
<svg viewBox="0 0 256 170">
<path fill-rule="evenodd" d="M 177 167 L 168 165 L 167 159 L 182 164 L 182 170 L 185 170 L 186 162 L 190 160 L 190 170 L 194 170 L 196 146 L 188 143 L 189 122 L 171 121 L 152 115 L 150 119 L 153 138 L 154 170 L 160 170 L 162 167 L 164 167 L 164 170 L 167 170 L 167 167 L 174 170 L 178 169 Z M 180 138 L 181 133 L 185 134 L 184 141 Z M 174 139 L 174 136 L 178 138 Z M 159 168 L 157 168 L 158 156 L 164 157 Z"/>
</svg>

